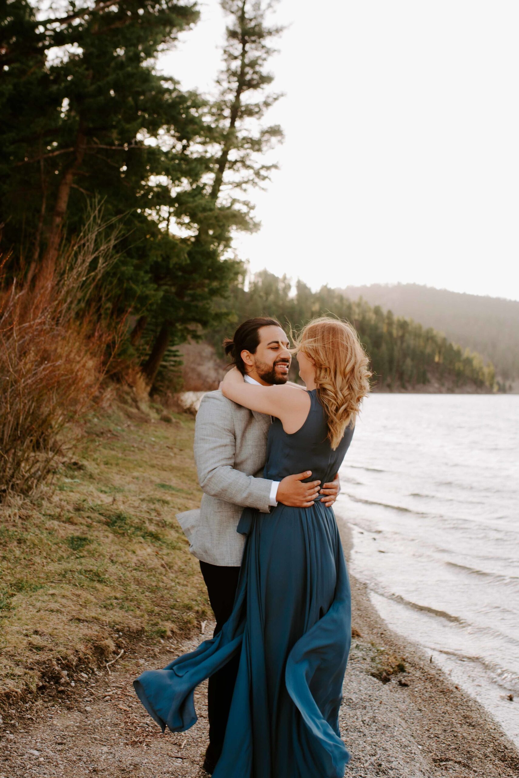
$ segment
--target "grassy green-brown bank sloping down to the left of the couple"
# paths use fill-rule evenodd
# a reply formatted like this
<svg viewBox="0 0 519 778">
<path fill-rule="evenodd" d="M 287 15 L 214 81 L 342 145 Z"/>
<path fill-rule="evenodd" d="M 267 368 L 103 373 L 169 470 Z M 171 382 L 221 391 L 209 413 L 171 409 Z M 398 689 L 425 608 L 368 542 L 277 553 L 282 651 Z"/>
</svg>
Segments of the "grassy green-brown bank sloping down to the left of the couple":
<svg viewBox="0 0 519 778">
<path fill-rule="evenodd" d="M 210 614 L 175 518 L 200 504 L 194 421 L 157 411 L 92 415 L 54 490 L 0 506 L 0 708 Z"/>
</svg>

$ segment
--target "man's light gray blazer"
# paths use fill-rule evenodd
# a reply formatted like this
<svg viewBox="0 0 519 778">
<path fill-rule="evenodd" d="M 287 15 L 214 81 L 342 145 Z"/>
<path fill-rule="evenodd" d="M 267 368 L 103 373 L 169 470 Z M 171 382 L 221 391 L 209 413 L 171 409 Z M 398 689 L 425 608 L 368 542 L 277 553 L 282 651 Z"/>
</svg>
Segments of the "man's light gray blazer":
<svg viewBox="0 0 519 778">
<path fill-rule="evenodd" d="M 239 567 L 245 545 L 236 532 L 242 508 L 269 512 L 272 481 L 262 478 L 270 416 L 207 392 L 195 424 L 194 456 L 204 492 L 198 510 L 178 513 L 190 552 L 211 565 Z"/>
</svg>

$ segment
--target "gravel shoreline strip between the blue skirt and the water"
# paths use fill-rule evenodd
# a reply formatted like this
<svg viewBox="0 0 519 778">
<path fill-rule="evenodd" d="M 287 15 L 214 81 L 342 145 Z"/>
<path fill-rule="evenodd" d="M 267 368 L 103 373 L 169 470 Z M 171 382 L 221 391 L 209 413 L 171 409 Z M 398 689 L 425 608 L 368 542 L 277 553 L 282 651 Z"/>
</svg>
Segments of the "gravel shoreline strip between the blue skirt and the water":
<svg viewBox="0 0 519 778">
<path fill-rule="evenodd" d="M 349 563 L 350 527 L 339 513 L 336 518 Z M 367 586 L 351 573 L 350 585 L 355 637 L 341 708 L 352 754 L 346 775 L 517 778 L 519 751 L 496 720 L 420 646 L 388 627 Z M 399 661 L 403 672 L 395 671 Z M 373 672 L 386 672 L 386 682 Z"/>
</svg>

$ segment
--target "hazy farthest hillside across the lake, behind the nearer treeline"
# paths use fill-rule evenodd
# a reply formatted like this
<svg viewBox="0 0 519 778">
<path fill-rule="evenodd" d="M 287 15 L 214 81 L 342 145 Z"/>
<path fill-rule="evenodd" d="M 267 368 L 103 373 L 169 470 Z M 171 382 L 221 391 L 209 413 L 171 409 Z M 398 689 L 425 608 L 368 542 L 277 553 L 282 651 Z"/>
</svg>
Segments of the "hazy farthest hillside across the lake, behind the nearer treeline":
<svg viewBox="0 0 519 778">
<path fill-rule="evenodd" d="M 519 381 L 519 302 L 419 284 L 347 286 L 342 291 L 350 300 L 363 297 L 396 316 L 444 332 L 449 340 L 491 361 L 501 381 Z"/>
</svg>

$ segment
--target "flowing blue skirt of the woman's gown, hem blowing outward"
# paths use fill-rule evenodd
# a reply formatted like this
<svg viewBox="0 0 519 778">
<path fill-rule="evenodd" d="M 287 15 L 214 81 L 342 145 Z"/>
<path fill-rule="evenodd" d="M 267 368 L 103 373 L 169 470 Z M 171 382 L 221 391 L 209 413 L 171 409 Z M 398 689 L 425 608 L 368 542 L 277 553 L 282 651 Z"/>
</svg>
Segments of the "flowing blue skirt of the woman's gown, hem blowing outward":
<svg viewBox="0 0 519 778">
<path fill-rule="evenodd" d="M 351 640 L 350 582 L 331 508 L 246 508 L 231 617 L 212 640 L 134 687 L 162 727 L 197 720 L 193 690 L 241 650 L 213 778 L 343 778 L 339 708 Z"/>
</svg>

